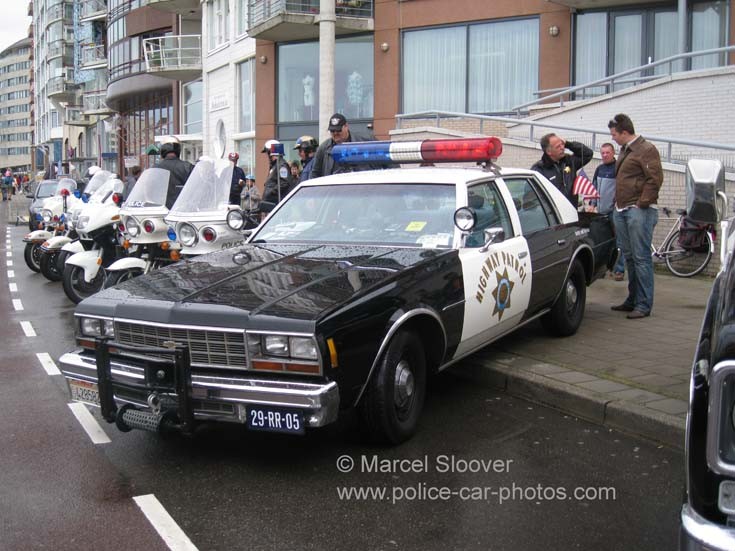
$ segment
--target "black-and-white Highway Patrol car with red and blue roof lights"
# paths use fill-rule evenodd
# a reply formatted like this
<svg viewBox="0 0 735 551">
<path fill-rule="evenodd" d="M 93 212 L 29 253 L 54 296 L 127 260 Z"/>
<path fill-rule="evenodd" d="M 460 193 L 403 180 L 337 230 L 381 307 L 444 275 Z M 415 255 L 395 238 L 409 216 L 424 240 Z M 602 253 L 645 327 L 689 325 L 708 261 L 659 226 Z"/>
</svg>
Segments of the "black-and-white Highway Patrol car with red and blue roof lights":
<svg viewBox="0 0 735 551">
<path fill-rule="evenodd" d="M 607 217 L 497 167 L 501 151 L 497 138 L 336 146 L 348 168 L 475 164 L 304 182 L 244 246 L 88 298 L 79 349 L 60 359 L 72 398 L 121 430 L 303 434 L 358 408 L 373 439 L 408 439 L 430 374 L 536 319 L 573 334 L 617 253 Z"/>
</svg>

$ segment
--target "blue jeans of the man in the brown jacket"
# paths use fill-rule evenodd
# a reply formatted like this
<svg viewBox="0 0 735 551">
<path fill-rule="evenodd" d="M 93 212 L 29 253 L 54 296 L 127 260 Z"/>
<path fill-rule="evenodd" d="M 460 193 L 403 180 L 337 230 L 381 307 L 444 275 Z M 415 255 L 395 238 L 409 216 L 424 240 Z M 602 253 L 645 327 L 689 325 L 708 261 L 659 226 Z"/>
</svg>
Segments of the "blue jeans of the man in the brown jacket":
<svg viewBox="0 0 735 551">
<path fill-rule="evenodd" d="M 654 208 L 629 208 L 613 214 L 618 243 L 628 268 L 628 298 L 624 304 L 648 314 L 653 308 L 653 259 L 651 241 L 658 222 Z"/>
</svg>

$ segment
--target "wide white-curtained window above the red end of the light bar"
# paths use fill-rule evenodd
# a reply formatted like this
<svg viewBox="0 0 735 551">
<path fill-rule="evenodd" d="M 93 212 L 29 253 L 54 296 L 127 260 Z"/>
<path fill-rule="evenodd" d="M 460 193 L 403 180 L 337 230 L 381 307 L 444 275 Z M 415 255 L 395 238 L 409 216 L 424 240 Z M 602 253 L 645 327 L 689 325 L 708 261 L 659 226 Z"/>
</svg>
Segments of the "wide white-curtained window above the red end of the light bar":
<svg viewBox="0 0 735 551">
<path fill-rule="evenodd" d="M 534 98 L 538 50 L 536 18 L 407 31 L 403 111 L 510 111 Z"/>
</svg>

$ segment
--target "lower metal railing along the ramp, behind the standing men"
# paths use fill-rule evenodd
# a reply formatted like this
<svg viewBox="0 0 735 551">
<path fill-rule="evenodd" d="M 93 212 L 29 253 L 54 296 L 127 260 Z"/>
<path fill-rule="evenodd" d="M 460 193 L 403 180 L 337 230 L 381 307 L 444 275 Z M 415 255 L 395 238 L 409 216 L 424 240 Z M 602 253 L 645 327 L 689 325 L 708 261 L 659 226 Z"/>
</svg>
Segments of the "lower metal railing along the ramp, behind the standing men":
<svg viewBox="0 0 735 551">
<path fill-rule="evenodd" d="M 409 120 L 432 121 L 437 128 L 480 135 L 485 134 L 490 127 L 493 127 L 492 132 L 501 134 L 500 137 L 527 140 L 534 144 L 538 143 L 538 138 L 550 130 L 564 130 L 572 133 L 572 135 L 565 136 L 567 139 L 582 142 L 595 151 L 598 148 L 598 144 L 610 141 L 609 129 L 598 130 L 554 122 L 540 122 L 493 115 L 474 115 L 452 111 L 400 113 L 396 115 L 396 128 L 405 128 L 406 121 Z M 538 129 L 544 130 L 538 132 Z M 665 136 L 651 136 L 650 134 L 645 134 L 645 138 L 658 148 L 661 154 L 661 160 L 664 162 L 686 164 L 689 159 L 704 157 L 717 159 L 722 162 L 726 169 L 735 170 L 735 145 L 733 144 L 683 140 Z"/>
</svg>

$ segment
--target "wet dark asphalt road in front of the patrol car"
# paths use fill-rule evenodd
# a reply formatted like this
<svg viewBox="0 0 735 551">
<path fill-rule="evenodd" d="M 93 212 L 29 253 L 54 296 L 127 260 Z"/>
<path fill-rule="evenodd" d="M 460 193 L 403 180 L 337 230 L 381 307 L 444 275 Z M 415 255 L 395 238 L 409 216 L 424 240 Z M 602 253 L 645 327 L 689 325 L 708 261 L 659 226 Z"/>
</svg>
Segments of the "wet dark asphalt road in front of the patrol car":
<svg viewBox="0 0 735 551">
<path fill-rule="evenodd" d="M 366 446 L 351 418 L 304 438 L 102 422 L 110 442 L 94 444 L 36 356 L 73 348 L 73 307 L 26 267 L 24 231 L 11 226 L 14 277 L 0 271 L 17 286 L 0 296 L 2 549 L 192 549 L 167 547 L 134 500 L 147 495 L 200 550 L 676 548 L 681 452 L 451 371 L 396 448 Z"/>
</svg>

